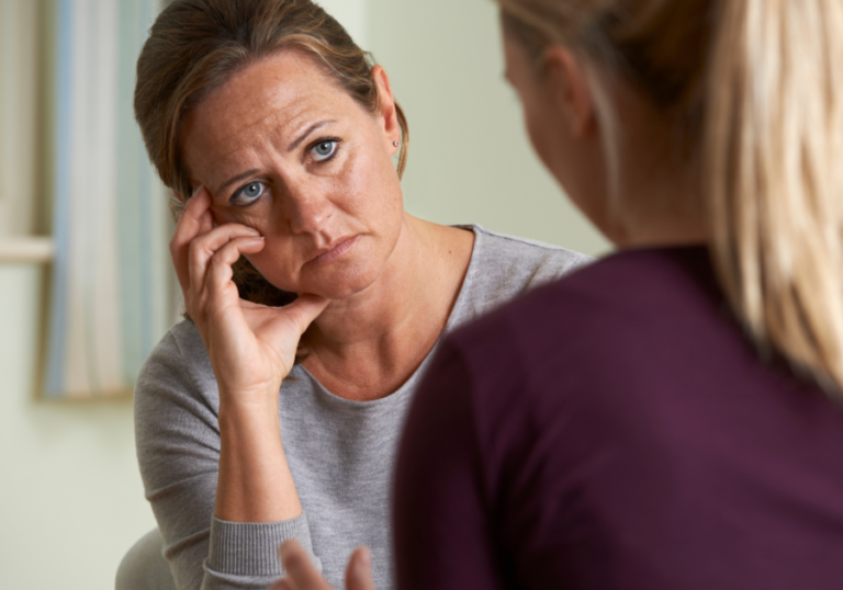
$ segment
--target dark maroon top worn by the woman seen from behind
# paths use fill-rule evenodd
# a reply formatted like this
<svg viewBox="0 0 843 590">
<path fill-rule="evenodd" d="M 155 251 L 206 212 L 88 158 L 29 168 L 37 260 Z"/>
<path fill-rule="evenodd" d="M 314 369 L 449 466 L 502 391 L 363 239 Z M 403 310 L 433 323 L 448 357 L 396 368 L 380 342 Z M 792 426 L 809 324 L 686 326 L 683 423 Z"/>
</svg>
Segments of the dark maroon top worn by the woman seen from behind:
<svg viewBox="0 0 843 590">
<path fill-rule="evenodd" d="M 843 409 L 702 248 L 614 254 L 451 334 L 401 445 L 401 590 L 843 589 Z"/>
</svg>

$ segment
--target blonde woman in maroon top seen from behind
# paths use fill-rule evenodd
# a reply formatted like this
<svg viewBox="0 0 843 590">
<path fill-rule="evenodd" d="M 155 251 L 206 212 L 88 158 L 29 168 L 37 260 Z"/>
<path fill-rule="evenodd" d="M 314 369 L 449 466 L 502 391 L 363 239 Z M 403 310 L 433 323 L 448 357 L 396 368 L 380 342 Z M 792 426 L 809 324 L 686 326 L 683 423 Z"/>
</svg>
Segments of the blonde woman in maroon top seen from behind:
<svg viewBox="0 0 843 590">
<path fill-rule="evenodd" d="M 536 151 L 618 252 L 440 348 L 398 588 L 840 589 L 843 2 L 498 1 Z"/>
</svg>

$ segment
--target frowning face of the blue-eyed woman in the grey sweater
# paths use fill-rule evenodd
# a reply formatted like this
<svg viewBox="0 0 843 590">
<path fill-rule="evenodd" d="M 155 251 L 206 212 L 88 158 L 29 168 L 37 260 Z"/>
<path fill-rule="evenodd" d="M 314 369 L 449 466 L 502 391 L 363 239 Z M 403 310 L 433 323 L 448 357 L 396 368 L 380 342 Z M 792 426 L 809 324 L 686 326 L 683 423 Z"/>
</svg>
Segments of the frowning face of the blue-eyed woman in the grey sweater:
<svg viewBox="0 0 843 590">
<path fill-rule="evenodd" d="M 307 54 L 283 49 L 250 65 L 187 117 L 182 152 L 217 224 L 260 231 L 249 261 L 277 287 L 328 298 L 379 276 L 402 230 L 392 163 L 401 138 L 389 80 L 372 76 L 371 113 Z"/>
</svg>

